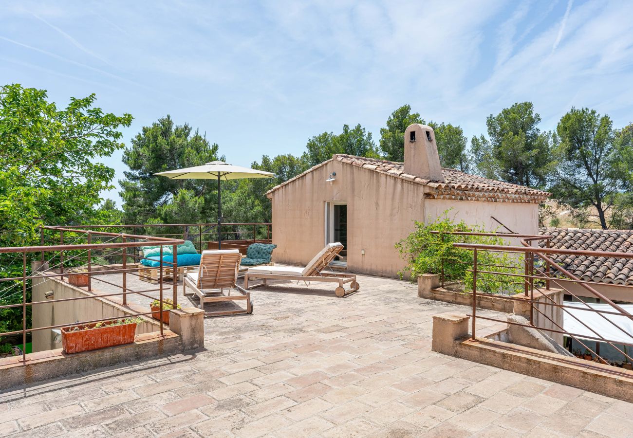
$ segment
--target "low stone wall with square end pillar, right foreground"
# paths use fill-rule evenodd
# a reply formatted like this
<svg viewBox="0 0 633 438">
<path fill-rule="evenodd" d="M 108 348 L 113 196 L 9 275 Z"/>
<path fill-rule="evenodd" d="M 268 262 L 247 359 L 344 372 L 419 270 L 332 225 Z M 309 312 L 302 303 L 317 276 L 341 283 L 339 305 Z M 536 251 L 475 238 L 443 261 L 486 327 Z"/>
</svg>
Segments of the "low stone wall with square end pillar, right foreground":
<svg viewBox="0 0 633 438">
<path fill-rule="evenodd" d="M 472 341 L 469 322 L 458 313 L 434 315 L 432 350 L 633 403 L 631 371 L 482 337 Z"/>
</svg>

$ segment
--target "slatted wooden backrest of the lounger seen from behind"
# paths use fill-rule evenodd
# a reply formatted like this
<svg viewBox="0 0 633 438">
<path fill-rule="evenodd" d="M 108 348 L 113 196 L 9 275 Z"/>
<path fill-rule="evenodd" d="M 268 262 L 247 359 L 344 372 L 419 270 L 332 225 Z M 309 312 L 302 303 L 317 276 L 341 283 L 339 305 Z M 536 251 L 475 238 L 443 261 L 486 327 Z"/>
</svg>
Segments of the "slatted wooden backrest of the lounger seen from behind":
<svg viewBox="0 0 633 438">
<path fill-rule="evenodd" d="M 237 249 L 203 251 L 200 257 L 197 287 L 200 289 L 233 287 L 241 260 L 242 254 Z"/>
</svg>

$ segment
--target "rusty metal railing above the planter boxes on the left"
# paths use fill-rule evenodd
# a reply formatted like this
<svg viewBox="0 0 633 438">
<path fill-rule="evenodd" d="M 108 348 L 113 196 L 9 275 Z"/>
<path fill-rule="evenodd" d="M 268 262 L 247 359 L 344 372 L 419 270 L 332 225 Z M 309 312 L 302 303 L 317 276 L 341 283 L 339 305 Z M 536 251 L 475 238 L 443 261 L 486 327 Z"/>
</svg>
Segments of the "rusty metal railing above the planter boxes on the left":
<svg viewBox="0 0 633 438">
<path fill-rule="evenodd" d="M 23 364 L 27 363 L 27 334 L 35 332 L 37 330 L 51 330 L 66 327 L 68 325 L 75 324 L 89 324 L 103 321 L 109 321 L 113 319 L 130 318 L 137 316 L 147 316 L 154 313 L 153 311 L 144 313 L 130 313 L 122 316 L 122 318 L 101 318 L 98 320 L 78 321 L 75 323 L 63 323 L 58 325 L 49 325 L 46 327 L 27 327 L 27 307 L 38 306 L 41 304 L 61 303 L 78 301 L 82 299 L 94 299 L 98 297 L 115 297 L 122 296 L 123 304 L 127 305 L 128 294 L 138 294 L 150 299 L 157 299 L 160 303 L 159 323 L 160 323 L 160 335 L 164 335 L 163 330 L 163 304 L 165 302 L 163 297 L 164 283 L 163 283 L 163 268 L 165 266 L 171 266 L 172 268 L 172 290 L 173 290 L 173 307 L 177 308 L 178 296 L 177 296 L 177 246 L 184 243 L 183 239 L 174 239 L 170 237 L 150 236 L 150 235 L 138 235 L 138 234 L 125 234 L 123 232 L 104 232 L 95 230 L 94 228 L 104 228 L 103 226 L 87 226 L 87 227 L 42 227 L 41 229 L 41 245 L 40 246 L 26 246 L 26 247 L 3 247 L 0 248 L 0 254 L 16 254 L 14 261 L 18 258 L 22 259 L 22 275 L 16 277 L 0 278 L 0 298 L 6 299 L 7 297 L 15 296 L 16 294 L 22 294 L 21 303 L 6 304 L 0 306 L 2 309 L 21 308 L 22 309 L 22 329 L 13 330 L 11 332 L 0 333 L 0 337 L 6 337 L 11 335 L 22 334 L 22 357 L 17 358 L 18 361 Z M 73 239 L 70 242 L 70 239 Z M 106 239 L 104 242 L 99 242 L 99 239 Z M 81 242 L 80 242 L 81 241 Z M 85 241 L 85 242 L 83 242 Z M 46 242 L 53 242 L 55 244 L 46 244 Z M 79 242 L 79 243 L 78 243 Z M 127 275 L 136 275 L 138 266 L 130 266 L 127 264 L 128 258 L 132 260 L 143 260 L 143 256 L 137 254 L 128 254 L 127 250 L 130 248 L 141 246 L 160 246 L 160 265 L 158 270 L 160 272 L 160 281 L 158 287 L 153 289 L 144 289 L 142 291 L 136 289 L 130 289 L 127 287 Z M 173 249 L 173 262 L 163 260 L 163 247 L 172 246 Z M 28 273 L 28 262 L 38 261 L 37 253 L 39 253 L 40 266 L 34 272 Z M 51 256 L 50 258 L 47 258 Z M 97 263 L 96 259 L 102 258 L 120 258 L 122 263 L 120 267 L 112 267 L 104 263 Z M 85 272 L 73 272 L 72 267 L 81 265 L 85 268 Z M 98 270 L 96 270 L 98 266 Z M 122 284 L 116 284 L 110 282 L 101 277 L 101 274 L 120 273 L 122 275 Z M 76 275 L 87 275 L 88 284 L 87 292 L 92 292 L 92 282 L 99 281 L 104 284 L 111 285 L 122 289 L 120 292 L 107 293 L 107 294 L 93 294 L 79 297 L 69 297 L 61 299 L 45 299 L 44 301 L 28 301 L 27 290 L 32 285 L 34 279 L 46 279 L 46 278 L 58 278 L 61 281 L 70 281 L 70 277 Z M 9 284 L 7 287 L 3 285 Z M 20 289 L 16 289 L 17 292 L 12 291 L 14 287 L 20 286 Z M 158 297 L 149 295 L 150 292 L 159 292 Z"/>
</svg>

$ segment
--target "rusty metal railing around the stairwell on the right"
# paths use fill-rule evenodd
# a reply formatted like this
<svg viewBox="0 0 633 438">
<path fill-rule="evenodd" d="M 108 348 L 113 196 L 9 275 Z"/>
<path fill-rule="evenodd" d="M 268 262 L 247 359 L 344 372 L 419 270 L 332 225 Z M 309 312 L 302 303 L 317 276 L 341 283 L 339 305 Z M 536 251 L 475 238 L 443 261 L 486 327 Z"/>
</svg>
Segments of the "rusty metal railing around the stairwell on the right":
<svg viewBox="0 0 633 438">
<path fill-rule="evenodd" d="M 468 234 L 468 233 L 462 233 Z M 497 234 L 479 234 L 479 235 L 497 235 Z M 583 318 L 579 318 L 574 315 L 570 309 L 580 310 L 587 313 L 594 313 L 599 315 L 600 318 L 603 318 L 605 323 L 610 324 L 613 328 L 619 330 L 626 339 L 633 339 L 633 334 L 625 330 L 618 323 L 615 323 L 611 318 L 608 318 L 606 315 L 617 315 L 622 318 L 628 318 L 633 320 L 633 315 L 631 315 L 627 310 L 625 310 L 620 304 L 615 303 L 605 294 L 597 291 L 594 287 L 592 287 L 592 282 L 582 280 L 567 269 L 564 266 L 561 266 L 560 263 L 556 263 L 555 260 L 551 257 L 553 254 L 567 254 L 569 256 L 594 256 L 594 257 L 605 257 L 605 258 L 619 258 L 619 259 L 633 259 L 632 253 L 622 253 L 622 252 L 614 252 L 614 251 L 584 251 L 577 249 L 558 249 L 552 248 L 549 243 L 552 239 L 550 235 L 517 235 L 517 234 L 499 234 L 503 235 L 503 237 L 519 237 L 522 246 L 505 246 L 505 245 L 486 245 L 486 244 L 475 244 L 475 243 L 454 243 L 454 247 L 470 249 L 473 251 L 473 263 L 472 269 L 468 270 L 468 272 L 472 273 L 472 314 L 469 315 L 472 318 L 472 340 L 477 340 L 477 327 L 476 321 L 477 319 L 489 320 L 492 322 L 500 322 L 507 323 L 513 325 L 519 325 L 523 327 L 529 327 L 532 329 L 539 329 L 545 332 L 551 332 L 556 334 L 562 334 L 563 336 L 567 336 L 570 339 L 578 342 L 582 345 L 586 351 L 591 352 L 592 358 L 596 358 L 600 363 L 609 364 L 609 362 L 600 356 L 598 348 L 592 349 L 587 345 L 586 341 L 596 341 L 596 345 L 599 346 L 598 342 L 604 342 L 609 346 L 613 347 L 615 351 L 622 354 L 625 358 L 625 361 L 633 362 L 633 357 L 630 355 L 630 350 L 627 352 L 626 347 L 621 349 L 618 345 L 633 347 L 632 342 L 625 342 L 622 339 L 606 339 L 604 335 L 599 332 L 599 329 L 596 327 L 591 327 L 591 324 L 587 323 Z M 532 242 L 537 241 L 546 241 L 544 247 L 532 247 Z M 484 268 L 483 270 L 480 268 L 478 264 L 478 254 L 482 251 L 491 251 L 494 253 L 513 253 L 517 254 L 517 256 L 523 257 L 523 265 L 524 270 L 523 273 L 517 272 L 495 272 L 494 270 L 487 270 Z M 537 261 L 539 261 L 541 266 L 537 266 Z M 515 266 L 519 268 L 519 266 Z M 519 280 L 519 283 L 523 285 L 523 297 L 518 298 L 517 296 L 503 296 L 503 299 L 510 300 L 518 300 L 523 303 L 530 304 L 530 322 L 529 324 L 522 324 L 517 322 L 510 322 L 508 320 L 501 320 L 498 318 L 492 318 L 490 316 L 478 315 L 477 314 L 477 297 L 478 296 L 496 296 L 496 294 L 486 294 L 479 290 L 478 282 L 482 281 L 480 275 L 499 275 L 511 277 Z M 547 291 L 550 290 L 551 281 L 556 281 L 557 284 L 563 287 L 565 294 L 571 295 L 573 298 L 577 299 L 578 303 L 581 303 L 581 306 L 570 306 L 565 304 L 556 303 L 556 301 L 548 294 Z M 579 295 L 572 290 L 565 287 L 565 284 L 578 284 L 582 289 L 584 289 L 586 295 Z M 633 286 L 631 285 L 612 285 L 613 287 L 624 287 L 629 288 L 632 291 L 633 296 Z M 540 292 L 539 296 L 542 298 L 537 301 L 534 297 L 534 292 Z M 600 303 L 608 304 L 610 310 L 598 310 L 596 308 L 592 308 L 586 301 L 586 297 L 595 297 L 599 299 Z M 527 299 L 526 299 L 527 297 Z M 585 299 L 583 299 L 585 298 Z M 556 322 L 549 318 L 546 315 L 540 306 L 553 306 L 556 308 L 560 308 L 565 315 L 570 316 L 573 320 L 577 321 L 582 327 L 587 329 L 592 335 L 588 335 L 587 333 L 578 334 L 572 333 L 569 330 L 566 330 L 561 324 L 562 321 Z M 544 325 L 537 325 L 534 323 L 535 317 L 539 316 L 540 318 L 544 318 L 549 322 L 549 327 L 544 327 Z M 587 364 L 589 366 L 589 364 Z"/>
</svg>

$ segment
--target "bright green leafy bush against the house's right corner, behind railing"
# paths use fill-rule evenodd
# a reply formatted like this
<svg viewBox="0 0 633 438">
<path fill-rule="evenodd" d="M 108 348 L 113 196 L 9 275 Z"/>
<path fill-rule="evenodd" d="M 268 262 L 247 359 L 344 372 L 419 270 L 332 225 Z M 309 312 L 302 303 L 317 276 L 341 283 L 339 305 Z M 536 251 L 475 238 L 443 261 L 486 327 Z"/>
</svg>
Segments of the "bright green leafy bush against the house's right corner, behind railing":
<svg viewBox="0 0 633 438">
<path fill-rule="evenodd" d="M 439 216 L 435 222 L 415 221 L 415 231 L 396 244 L 401 258 L 407 261 L 399 273 L 400 278 L 415 280 L 418 275 L 434 273 L 441 275 L 444 261 L 444 281 L 461 280 L 465 289 L 472 291 L 474 252 L 472 249 L 457 248 L 453 244 L 474 243 L 486 245 L 507 245 L 502 237 L 460 235 L 451 232 L 484 232 L 484 227 L 471 227 L 463 220 L 458 223 L 449 218 L 449 210 Z M 501 275 L 522 273 L 517 256 L 511 253 L 493 253 L 477 251 L 477 291 L 487 294 L 518 294 L 523 291 L 522 278 Z M 488 266 L 494 265 L 494 266 Z M 501 267 L 499 267 L 501 266 Z M 483 273 L 479 270 L 494 273 Z"/>
</svg>

